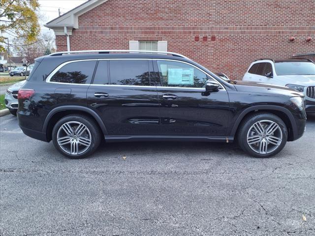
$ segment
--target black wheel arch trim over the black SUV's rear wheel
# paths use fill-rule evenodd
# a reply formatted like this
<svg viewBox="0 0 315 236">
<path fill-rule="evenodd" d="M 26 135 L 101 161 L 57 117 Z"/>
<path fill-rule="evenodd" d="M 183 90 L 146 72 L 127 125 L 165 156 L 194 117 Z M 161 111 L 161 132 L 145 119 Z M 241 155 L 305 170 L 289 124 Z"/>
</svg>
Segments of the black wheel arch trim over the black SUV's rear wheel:
<svg viewBox="0 0 315 236">
<path fill-rule="evenodd" d="M 51 141 L 52 139 L 52 130 L 54 124 L 64 116 L 71 115 L 71 114 L 82 114 L 89 116 L 95 120 L 98 124 L 100 130 L 102 131 L 103 135 L 107 135 L 106 127 L 102 121 L 102 119 L 98 116 L 98 114 L 90 108 L 83 107 L 83 106 L 60 106 L 56 107 L 51 110 L 47 117 L 45 118 L 42 132 L 46 133 L 47 141 Z"/>
</svg>

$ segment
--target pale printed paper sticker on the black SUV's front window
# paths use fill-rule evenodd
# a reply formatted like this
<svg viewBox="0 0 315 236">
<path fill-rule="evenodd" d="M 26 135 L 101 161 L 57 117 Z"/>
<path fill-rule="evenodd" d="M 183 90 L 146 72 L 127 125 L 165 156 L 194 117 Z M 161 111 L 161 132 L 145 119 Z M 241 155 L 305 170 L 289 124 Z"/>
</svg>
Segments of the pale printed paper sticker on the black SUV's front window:
<svg viewBox="0 0 315 236">
<path fill-rule="evenodd" d="M 168 85 L 193 85 L 193 68 L 168 68 Z"/>
</svg>

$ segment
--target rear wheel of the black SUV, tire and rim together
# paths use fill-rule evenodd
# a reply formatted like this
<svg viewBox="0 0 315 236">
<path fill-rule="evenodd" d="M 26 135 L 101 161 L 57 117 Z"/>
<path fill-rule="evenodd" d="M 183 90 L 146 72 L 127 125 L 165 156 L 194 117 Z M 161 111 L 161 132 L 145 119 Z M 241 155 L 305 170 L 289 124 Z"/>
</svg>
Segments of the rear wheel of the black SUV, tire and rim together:
<svg viewBox="0 0 315 236">
<path fill-rule="evenodd" d="M 52 140 L 63 155 L 77 159 L 92 154 L 98 148 L 101 132 L 93 119 L 69 115 L 57 121 Z"/>
</svg>

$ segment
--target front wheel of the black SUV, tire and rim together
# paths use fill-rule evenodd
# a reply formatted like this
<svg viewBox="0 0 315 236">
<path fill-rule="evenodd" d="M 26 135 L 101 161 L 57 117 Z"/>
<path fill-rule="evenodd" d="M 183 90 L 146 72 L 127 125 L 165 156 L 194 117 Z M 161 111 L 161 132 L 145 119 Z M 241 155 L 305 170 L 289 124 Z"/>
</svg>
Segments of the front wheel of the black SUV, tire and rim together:
<svg viewBox="0 0 315 236">
<path fill-rule="evenodd" d="M 284 148 L 286 140 L 284 121 L 269 113 L 258 113 L 246 118 L 238 132 L 240 147 L 254 157 L 276 155 Z"/>
</svg>

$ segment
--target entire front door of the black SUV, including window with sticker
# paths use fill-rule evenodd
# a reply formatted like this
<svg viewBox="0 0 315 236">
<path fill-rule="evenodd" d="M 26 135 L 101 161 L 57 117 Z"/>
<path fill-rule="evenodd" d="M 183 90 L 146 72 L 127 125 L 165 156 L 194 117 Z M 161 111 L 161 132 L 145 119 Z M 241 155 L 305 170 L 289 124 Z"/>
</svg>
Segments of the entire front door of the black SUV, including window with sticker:
<svg viewBox="0 0 315 236">
<path fill-rule="evenodd" d="M 205 92 L 209 77 L 192 65 L 157 60 L 161 135 L 223 136 L 231 116 L 225 89 Z"/>
</svg>

